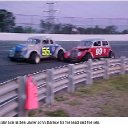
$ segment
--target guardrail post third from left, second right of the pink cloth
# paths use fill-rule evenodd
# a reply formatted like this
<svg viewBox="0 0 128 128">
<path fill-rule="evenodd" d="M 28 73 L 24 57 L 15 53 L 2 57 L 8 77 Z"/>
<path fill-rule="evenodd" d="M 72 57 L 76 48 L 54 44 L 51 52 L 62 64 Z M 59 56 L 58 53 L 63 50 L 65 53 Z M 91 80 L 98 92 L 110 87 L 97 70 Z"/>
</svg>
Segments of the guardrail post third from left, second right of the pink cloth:
<svg viewBox="0 0 128 128">
<path fill-rule="evenodd" d="M 75 84 L 74 84 L 74 65 L 69 64 L 69 84 L 68 84 L 68 92 L 74 92 L 75 91 Z"/>
</svg>

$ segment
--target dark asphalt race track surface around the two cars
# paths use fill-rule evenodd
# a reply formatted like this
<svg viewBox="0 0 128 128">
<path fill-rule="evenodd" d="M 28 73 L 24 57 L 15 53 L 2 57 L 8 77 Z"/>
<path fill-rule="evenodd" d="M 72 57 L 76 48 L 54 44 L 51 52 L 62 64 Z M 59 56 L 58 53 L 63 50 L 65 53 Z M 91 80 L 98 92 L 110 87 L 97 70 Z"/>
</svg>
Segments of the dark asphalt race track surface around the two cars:
<svg viewBox="0 0 128 128">
<path fill-rule="evenodd" d="M 40 64 L 29 64 L 27 62 L 11 62 L 8 59 L 8 50 L 15 44 L 21 42 L 0 41 L 0 83 L 17 76 L 31 74 L 41 70 L 67 65 L 69 63 L 59 62 L 55 59 L 44 59 Z M 78 42 L 59 42 L 66 50 L 76 46 Z M 128 41 L 110 42 L 116 57 L 128 57 Z"/>
</svg>

